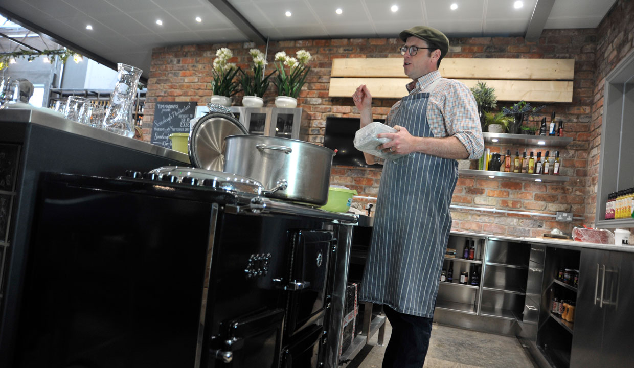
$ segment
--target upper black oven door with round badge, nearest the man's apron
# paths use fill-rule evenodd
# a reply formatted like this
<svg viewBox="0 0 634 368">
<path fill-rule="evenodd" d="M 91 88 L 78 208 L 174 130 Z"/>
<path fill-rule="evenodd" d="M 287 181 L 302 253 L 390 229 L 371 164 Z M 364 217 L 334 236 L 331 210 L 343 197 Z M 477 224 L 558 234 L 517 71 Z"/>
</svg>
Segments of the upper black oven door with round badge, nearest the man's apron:
<svg viewBox="0 0 634 368">
<path fill-rule="evenodd" d="M 331 231 L 291 232 L 285 334 L 292 336 L 323 317 L 327 305 L 328 269 L 333 253 Z"/>
</svg>

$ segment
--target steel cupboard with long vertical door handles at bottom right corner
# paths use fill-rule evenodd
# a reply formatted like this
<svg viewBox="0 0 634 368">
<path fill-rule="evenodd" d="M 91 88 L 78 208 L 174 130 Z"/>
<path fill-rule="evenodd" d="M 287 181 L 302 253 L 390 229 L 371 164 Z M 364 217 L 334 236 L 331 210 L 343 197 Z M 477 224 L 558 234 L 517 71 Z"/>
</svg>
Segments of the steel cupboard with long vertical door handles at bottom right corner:
<svg viewBox="0 0 634 368">
<path fill-rule="evenodd" d="M 571 367 L 631 366 L 633 265 L 633 253 L 581 251 Z"/>
</svg>

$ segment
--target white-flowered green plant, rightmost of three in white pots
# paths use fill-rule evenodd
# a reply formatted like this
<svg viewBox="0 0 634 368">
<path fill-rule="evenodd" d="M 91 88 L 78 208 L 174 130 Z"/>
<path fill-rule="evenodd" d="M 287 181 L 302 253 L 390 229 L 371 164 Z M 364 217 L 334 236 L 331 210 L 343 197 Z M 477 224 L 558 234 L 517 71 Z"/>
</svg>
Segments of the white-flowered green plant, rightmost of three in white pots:
<svg viewBox="0 0 634 368">
<path fill-rule="evenodd" d="M 273 78 L 273 84 L 278 89 L 278 96 L 297 98 L 311 70 L 307 64 L 312 56 L 308 51 L 299 50 L 295 55 L 297 58 L 287 56 L 284 51 L 275 54 L 274 64 L 278 74 Z M 288 72 L 285 66 L 288 67 Z"/>
</svg>

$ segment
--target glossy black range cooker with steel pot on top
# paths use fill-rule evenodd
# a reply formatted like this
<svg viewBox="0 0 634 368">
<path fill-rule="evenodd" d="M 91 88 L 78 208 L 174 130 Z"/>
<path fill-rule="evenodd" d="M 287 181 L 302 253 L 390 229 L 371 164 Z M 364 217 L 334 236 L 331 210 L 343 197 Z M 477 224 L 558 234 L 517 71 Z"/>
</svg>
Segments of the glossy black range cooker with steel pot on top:
<svg viewBox="0 0 634 368">
<path fill-rule="evenodd" d="M 187 176 L 42 175 L 11 367 L 332 366 L 355 217 Z"/>
</svg>

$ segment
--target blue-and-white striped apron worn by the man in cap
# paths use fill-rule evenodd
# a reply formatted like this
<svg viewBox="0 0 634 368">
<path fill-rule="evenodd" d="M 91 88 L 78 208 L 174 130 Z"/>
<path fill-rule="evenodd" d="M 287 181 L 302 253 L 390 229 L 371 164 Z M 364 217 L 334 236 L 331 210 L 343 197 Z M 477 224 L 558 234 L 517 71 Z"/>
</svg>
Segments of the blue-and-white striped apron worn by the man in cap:
<svg viewBox="0 0 634 368">
<path fill-rule="evenodd" d="M 404 97 L 391 125 L 412 136 L 434 137 L 427 124 L 428 101 L 429 92 Z M 434 315 L 457 180 L 456 160 L 416 152 L 385 162 L 361 300 L 404 314 Z"/>
</svg>

